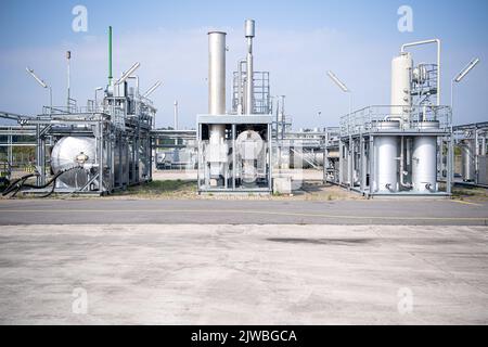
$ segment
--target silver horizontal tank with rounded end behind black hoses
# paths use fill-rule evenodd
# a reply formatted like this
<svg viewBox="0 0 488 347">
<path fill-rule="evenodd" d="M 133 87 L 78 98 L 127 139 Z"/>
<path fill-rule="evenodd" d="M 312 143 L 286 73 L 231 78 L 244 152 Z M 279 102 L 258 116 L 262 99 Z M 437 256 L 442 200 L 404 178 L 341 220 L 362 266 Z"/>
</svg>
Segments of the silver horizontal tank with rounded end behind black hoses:
<svg viewBox="0 0 488 347">
<path fill-rule="evenodd" d="M 65 137 L 56 142 L 51 152 L 51 168 L 54 175 L 62 170 L 69 170 L 60 176 L 59 180 L 72 188 L 82 188 L 88 183 L 87 171 L 81 168 L 95 164 L 97 144 L 94 138 Z M 80 159 L 82 163 L 80 163 Z"/>
</svg>

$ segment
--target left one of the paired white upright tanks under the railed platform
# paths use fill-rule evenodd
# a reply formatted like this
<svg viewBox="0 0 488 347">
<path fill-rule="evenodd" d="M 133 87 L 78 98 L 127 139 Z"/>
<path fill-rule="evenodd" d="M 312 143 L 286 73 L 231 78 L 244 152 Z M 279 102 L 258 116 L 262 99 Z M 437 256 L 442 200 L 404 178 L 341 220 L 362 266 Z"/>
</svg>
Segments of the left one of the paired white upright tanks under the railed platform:
<svg viewBox="0 0 488 347">
<path fill-rule="evenodd" d="M 380 129 L 395 130 L 400 124 L 398 121 L 380 121 Z M 375 158 L 375 190 L 380 192 L 396 192 L 398 190 L 398 142 L 395 136 L 376 136 L 374 138 Z"/>
</svg>

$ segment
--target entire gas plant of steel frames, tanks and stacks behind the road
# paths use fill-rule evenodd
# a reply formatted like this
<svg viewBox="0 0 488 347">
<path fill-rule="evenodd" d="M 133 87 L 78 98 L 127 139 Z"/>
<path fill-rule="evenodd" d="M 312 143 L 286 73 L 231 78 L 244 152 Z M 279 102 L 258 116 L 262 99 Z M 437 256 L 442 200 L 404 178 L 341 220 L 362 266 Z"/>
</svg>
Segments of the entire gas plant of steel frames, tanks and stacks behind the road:
<svg viewBox="0 0 488 347">
<path fill-rule="evenodd" d="M 195 115 L 194 129 L 182 130 L 177 102 L 175 128 L 155 127 L 157 110 L 150 95 L 160 82 L 141 92 L 134 74 L 140 63 L 119 78 L 112 76 L 110 28 L 108 82 L 98 89 L 100 100 L 78 106 L 69 97 L 68 76 L 64 106 L 43 106 L 33 116 L 0 112 L 17 123 L 0 129 L 3 195 L 105 195 L 151 181 L 154 170 L 174 169 L 195 170 L 201 194 L 291 193 L 293 175 L 287 172 L 305 168 L 321 171 L 324 183 L 368 197 L 448 197 L 454 184 L 488 187 L 488 121 L 453 125 L 451 105 L 442 103 L 440 39 L 400 47 L 391 62 L 390 104 L 350 110 L 337 127 L 293 130 L 285 97 L 272 97 L 270 72 L 255 68 L 256 31 L 255 21 L 245 21 L 246 56 L 232 62 L 229 77 L 227 33 L 208 33 L 208 111 Z M 437 48 L 436 56 L 419 63 L 412 48 L 428 46 Z M 69 60 L 68 52 L 68 75 Z M 349 92 L 334 73 L 326 74 Z M 35 157 L 20 157 L 14 149 L 23 146 L 35 149 Z"/>
</svg>

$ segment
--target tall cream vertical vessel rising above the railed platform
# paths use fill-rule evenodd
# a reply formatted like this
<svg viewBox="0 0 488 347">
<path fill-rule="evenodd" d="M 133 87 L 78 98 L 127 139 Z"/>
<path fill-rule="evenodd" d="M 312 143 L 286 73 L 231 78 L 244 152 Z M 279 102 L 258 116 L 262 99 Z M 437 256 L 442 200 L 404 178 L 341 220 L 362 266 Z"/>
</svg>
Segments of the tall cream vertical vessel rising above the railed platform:
<svg viewBox="0 0 488 347">
<path fill-rule="evenodd" d="M 391 61 L 391 116 L 398 116 L 403 121 L 410 119 L 412 55 L 408 52 Z"/>
</svg>

